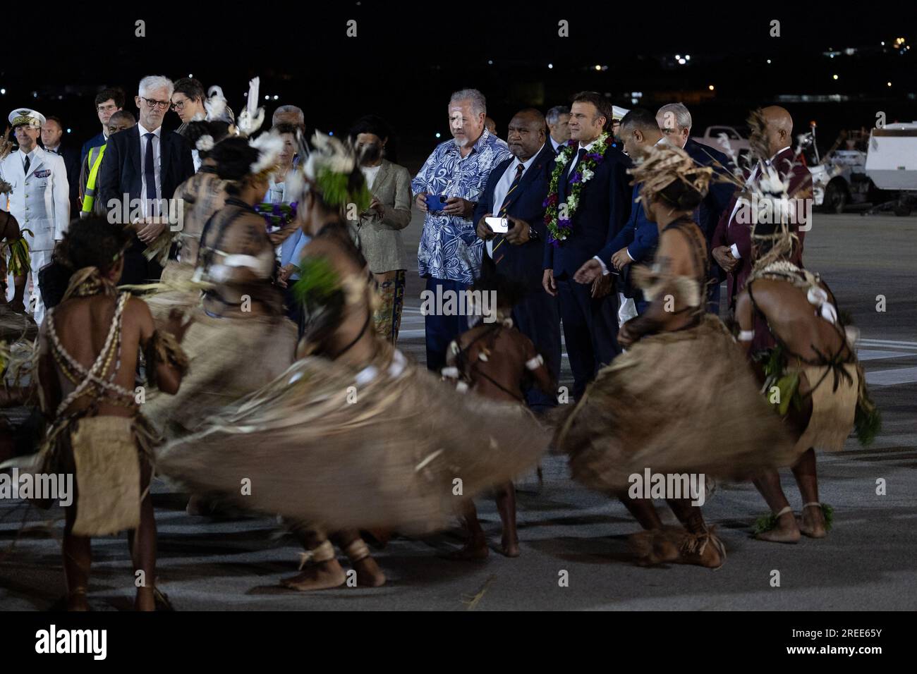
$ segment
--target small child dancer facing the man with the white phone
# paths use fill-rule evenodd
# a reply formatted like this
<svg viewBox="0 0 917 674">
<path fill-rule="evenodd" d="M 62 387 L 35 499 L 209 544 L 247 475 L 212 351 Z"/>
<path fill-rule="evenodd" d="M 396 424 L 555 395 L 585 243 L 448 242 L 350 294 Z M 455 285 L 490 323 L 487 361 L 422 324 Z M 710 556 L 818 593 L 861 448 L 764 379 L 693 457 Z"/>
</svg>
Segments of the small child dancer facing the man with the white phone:
<svg viewBox="0 0 917 674">
<path fill-rule="evenodd" d="M 499 274 L 492 265 L 481 267 L 481 277 L 471 286 L 472 296 L 486 294 L 493 314 L 449 344 L 447 367 L 443 376 L 458 380 L 458 391 L 474 391 L 493 400 L 519 403 L 525 408 L 525 391 L 534 383 L 549 395 L 557 390 L 557 381 L 545 365 L 535 344 L 513 326 L 513 307 L 525 294 L 525 286 Z M 490 304 L 490 302 L 488 304 Z M 483 304 L 483 302 L 481 303 Z M 481 320 L 479 318 L 479 320 Z M 535 416 L 529 424 L 538 427 Z M 515 521 L 515 487 L 512 481 L 494 489 L 497 511 L 503 521 L 501 549 L 506 557 L 519 557 L 519 536 Z M 468 542 L 453 558 L 481 559 L 488 555 L 487 538 L 478 521 L 474 502 L 465 506 Z"/>
</svg>

